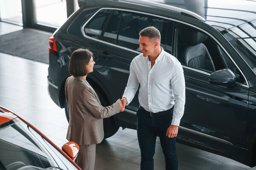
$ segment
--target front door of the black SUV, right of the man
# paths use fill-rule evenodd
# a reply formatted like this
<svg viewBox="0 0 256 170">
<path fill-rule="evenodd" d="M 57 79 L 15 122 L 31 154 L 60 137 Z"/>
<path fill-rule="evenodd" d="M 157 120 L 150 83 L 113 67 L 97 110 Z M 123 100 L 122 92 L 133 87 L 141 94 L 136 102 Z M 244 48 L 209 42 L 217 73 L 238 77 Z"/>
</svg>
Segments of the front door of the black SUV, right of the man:
<svg viewBox="0 0 256 170">
<path fill-rule="evenodd" d="M 205 32 L 177 23 L 174 41 L 175 57 L 183 65 L 186 82 L 179 138 L 243 161 L 249 90 L 243 74 Z M 229 68 L 236 75 L 234 87 L 209 82 L 209 75 L 223 68 Z"/>
</svg>

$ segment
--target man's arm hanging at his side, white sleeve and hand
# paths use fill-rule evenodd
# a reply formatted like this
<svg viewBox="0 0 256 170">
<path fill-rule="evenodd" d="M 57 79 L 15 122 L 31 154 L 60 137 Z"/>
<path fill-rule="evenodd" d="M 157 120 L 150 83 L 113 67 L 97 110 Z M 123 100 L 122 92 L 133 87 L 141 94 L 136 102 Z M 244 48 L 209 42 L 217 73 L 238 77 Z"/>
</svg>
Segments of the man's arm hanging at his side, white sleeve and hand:
<svg viewBox="0 0 256 170">
<path fill-rule="evenodd" d="M 177 136 L 180 119 L 182 118 L 184 113 L 186 88 L 183 69 L 180 63 L 175 65 L 172 74 L 171 84 L 175 99 L 175 105 L 173 109 L 172 123 L 166 131 L 166 136 L 168 136 L 169 138 Z"/>
</svg>

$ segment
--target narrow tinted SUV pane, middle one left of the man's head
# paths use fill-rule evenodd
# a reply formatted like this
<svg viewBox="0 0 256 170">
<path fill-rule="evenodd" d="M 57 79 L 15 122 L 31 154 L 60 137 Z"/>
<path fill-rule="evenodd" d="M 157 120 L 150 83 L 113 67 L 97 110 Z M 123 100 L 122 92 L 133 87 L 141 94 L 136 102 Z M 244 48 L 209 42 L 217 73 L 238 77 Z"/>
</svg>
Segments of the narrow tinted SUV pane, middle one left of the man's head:
<svg viewBox="0 0 256 170">
<path fill-rule="evenodd" d="M 106 27 L 105 32 L 103 34 L 103 41 L 116 44 L 120 17 L 121 11 L 113 11 L 111 18 L 108 22 L 108 26 Z"/>
</svg>

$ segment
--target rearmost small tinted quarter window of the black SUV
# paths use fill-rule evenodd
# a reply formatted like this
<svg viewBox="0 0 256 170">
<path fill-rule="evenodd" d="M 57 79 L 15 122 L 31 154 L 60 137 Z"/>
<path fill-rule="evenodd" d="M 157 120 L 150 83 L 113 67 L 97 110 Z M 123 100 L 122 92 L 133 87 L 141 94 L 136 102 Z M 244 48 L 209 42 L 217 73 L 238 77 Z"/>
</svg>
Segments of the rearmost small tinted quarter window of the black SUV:
<svg viewBox="0 0 256 170">
<path fill-rule="evenodd" d="M 84 27 L 85 34 L 87 36 L 100 39 L 103 27 L 108 19 L 110 11 L 111 10 L 107 9 L 99 11 Z"/>
</svg>

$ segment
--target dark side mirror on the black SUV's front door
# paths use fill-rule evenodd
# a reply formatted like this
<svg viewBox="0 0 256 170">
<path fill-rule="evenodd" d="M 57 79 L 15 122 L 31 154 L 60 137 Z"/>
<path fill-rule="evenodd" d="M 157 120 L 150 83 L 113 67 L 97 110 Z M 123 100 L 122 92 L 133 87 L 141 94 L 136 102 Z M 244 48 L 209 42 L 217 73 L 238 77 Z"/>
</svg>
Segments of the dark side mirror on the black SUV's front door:
<svg viewBox="0 0 256 170">
<path fill-rule="evenodd" d="M 236 85 L 236 76 L 228 68 L 215 71 L 209 75 L 209 82 L 215 85 L 228 85 L 233 87 Z"/>
</svg>

